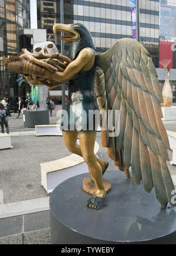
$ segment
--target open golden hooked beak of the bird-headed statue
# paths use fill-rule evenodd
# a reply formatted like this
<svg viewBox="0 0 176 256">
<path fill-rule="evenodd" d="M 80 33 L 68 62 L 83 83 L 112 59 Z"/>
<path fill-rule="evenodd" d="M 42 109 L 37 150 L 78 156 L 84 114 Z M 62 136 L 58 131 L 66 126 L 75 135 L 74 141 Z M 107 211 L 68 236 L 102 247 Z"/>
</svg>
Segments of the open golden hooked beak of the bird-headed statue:
<svg viewBox="0 0 176 256">
<path fill-rule="evenodd" d="M 65 33 L 66 36 L 60 36 L 60 39 L 66 42 L 76 42 L 80 39 L 80 35 L 75 29 L 72 28 L 71 24 L 55 24 L 53 26 L 53 32 L 56 35 L 57 32 Z"/>
</svg>

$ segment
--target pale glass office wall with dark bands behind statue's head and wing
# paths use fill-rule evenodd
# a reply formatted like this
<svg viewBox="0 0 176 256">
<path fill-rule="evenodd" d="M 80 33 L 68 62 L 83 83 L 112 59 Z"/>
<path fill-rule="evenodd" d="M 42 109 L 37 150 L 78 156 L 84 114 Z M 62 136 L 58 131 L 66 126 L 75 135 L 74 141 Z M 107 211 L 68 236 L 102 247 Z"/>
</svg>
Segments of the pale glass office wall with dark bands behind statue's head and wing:
<svg viewBox="0 0 176 256">
<path fill-rule="evenodd" d="M 74 22 L 84 23 L 92 33 L 98 52 L 118 39 L 132 38 L 129 0 L 74 0 L 73 14 Z M 160 0 L 140 0 L 140 41 L 153 59 L 159 55 L 159 17 Z"/>
</svg>

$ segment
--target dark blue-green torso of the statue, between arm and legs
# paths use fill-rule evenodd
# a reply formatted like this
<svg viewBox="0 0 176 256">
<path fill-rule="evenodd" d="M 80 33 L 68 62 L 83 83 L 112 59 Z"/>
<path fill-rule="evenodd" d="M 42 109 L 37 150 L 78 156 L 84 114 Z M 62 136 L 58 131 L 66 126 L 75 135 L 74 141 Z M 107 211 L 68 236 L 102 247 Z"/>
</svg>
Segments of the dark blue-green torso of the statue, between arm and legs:
<svg viewBox="0 0 176 256">
<path fill-rule="evenodd" d="M 96 55 L 96 53 L 94 52 Z M 91 69 L 81 71 L 69 81 L 69 100 L 67 102 L 67 113 L 69 117 L 69 127 L 63 130 L 77 130 L 83 132 L 89 130 L 89 110 L 98 110 L 96 96 L 94 95 L 94 80 L 96 74 L 96 63 Z M 61 125 L 66 122 L 63 117 Z M 96 130 L 95 124 L 93 129 Z"/>
</svg>

